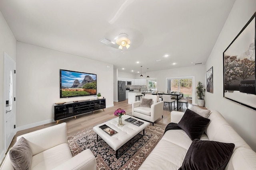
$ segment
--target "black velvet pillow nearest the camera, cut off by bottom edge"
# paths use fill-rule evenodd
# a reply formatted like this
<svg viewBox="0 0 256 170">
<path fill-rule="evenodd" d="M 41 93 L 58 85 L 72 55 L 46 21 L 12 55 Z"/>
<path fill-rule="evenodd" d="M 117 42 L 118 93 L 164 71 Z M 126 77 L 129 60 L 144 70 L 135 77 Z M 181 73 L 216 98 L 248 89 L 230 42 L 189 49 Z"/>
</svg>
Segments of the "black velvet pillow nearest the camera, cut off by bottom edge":
<svg viewBox="0 0 256 170">
<path fill-rule="evenodd" d="M 224 170 L 234 147 L 234 143 L 195 139 L 178 170 Z"/>
</svg>

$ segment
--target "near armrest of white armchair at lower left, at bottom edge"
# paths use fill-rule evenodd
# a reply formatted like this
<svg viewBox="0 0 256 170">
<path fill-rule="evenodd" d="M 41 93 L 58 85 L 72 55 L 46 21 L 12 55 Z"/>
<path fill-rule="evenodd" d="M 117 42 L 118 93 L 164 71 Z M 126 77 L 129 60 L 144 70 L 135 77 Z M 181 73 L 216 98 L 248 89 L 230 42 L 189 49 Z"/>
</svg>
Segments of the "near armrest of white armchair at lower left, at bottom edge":
<svg viewBox="0 0 256 170">
<path fill-rule="evenodd" d="M 90 149 L 86 149 L 53 170 L 96 170 L 96 159 Z"/>
</svg>

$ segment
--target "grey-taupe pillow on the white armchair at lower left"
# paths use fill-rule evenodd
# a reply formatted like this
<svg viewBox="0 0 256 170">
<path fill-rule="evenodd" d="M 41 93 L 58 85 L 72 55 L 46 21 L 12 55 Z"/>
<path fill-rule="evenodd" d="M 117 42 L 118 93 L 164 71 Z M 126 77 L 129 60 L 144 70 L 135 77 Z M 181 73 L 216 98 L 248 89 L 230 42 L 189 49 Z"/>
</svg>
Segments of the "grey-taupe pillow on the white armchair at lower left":
<svg viewBox="0 0 256 170">
<path fill-rule="evenodd" d="M 21 137 L 10 149 L 9 156 L 15 170 L 30 170 L 33 155 L 24 137 Z"/>
</svg>

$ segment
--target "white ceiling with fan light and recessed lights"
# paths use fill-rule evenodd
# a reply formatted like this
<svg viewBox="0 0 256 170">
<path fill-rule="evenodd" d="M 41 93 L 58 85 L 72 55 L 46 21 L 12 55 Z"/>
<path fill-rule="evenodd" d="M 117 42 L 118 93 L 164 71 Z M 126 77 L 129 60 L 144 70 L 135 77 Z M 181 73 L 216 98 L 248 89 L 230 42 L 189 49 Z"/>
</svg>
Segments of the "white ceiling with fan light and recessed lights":
<svg viewBox="0 0 256 170">
<path fill-rule="evenodd" d="M 17 41 L 138 74 L 141 66 L 142 72 L 150 72 L 204 64 L 234 2 L 0 0 L 0 11 Z M 100 42 L 104 37 L 115 41 L 120 33 L 131 41 L 124 53 L 116 44 Z"/>
</svg>

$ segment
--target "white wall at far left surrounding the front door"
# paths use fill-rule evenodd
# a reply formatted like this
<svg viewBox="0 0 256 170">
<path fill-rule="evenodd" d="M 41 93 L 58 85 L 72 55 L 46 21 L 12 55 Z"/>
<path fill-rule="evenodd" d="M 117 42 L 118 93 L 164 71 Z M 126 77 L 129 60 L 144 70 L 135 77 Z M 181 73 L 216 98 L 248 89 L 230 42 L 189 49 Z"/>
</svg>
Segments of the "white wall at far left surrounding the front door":
<svg viewBox="0 0 256 170">
<path fill-rule="evenodd" d="M 4 158 L 4 52 L 16 62 L 16 39 L 0 12 L 0 160 Z"/>
</svg>

